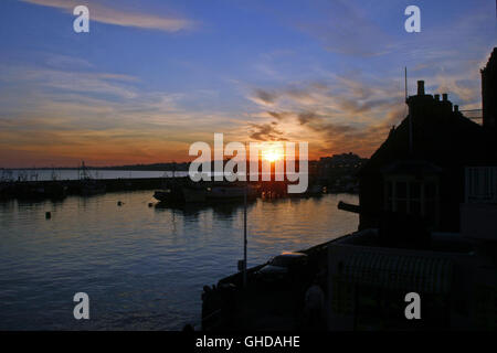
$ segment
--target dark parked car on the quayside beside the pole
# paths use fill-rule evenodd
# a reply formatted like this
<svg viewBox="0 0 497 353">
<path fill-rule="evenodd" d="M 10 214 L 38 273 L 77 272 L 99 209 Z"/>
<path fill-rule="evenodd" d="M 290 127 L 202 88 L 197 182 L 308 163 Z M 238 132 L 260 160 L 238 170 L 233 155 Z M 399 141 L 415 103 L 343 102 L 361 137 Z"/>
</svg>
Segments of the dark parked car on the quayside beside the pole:
<svg viewBox="0 0 497 353">
<path fill-rule="evenodd" d="M 307 255 L 303 253 L 282 253 L 272 258 L 257 270 L 256 276 L 262 281 L 290 281 L 304 272 L 307 266 Z"/>
</svg>

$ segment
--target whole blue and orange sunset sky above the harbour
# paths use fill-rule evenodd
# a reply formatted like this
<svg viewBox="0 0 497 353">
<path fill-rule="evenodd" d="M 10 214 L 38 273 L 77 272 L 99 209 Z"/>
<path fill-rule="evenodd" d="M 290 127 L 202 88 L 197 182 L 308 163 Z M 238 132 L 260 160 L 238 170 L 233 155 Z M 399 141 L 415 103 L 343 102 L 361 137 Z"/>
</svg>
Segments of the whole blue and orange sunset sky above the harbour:
<svg viewBox="0 0 497 353">
<path fill-rule="evenodd" d="M 479 108 L 496 45 L 494 0 L 2 0 L 0 167 L 186 161 L 214 132 L 369 157 L 405 116 L 404 66 L 410 94 Z"/>
</svg>

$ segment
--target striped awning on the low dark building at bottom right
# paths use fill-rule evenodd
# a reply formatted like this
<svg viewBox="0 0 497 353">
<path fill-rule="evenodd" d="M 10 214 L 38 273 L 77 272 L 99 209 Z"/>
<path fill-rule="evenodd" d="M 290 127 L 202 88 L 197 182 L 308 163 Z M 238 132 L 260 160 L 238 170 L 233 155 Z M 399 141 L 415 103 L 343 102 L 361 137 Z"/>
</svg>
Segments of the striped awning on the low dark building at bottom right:
<svg viewBox="0 0 497 353">
<path fill-rule="evenodd" d="M 446 258 L 377 252 L 350 254 L 342 264 L 348 282 L 426 293 L 447 293 L 453 272 Z"/>
</svg>

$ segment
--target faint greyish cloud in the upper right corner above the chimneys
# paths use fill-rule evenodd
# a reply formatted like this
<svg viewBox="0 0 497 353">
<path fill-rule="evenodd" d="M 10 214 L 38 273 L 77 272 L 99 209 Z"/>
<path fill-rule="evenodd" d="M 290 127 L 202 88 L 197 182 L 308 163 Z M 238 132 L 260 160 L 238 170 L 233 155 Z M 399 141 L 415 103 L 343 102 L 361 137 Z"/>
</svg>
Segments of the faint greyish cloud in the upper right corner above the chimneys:
<svg viewBox="0 0 497 353">
<path fill-rule="evenodd" d="M 424 36 L 408 36 L 402 52 L 412 75 L 425 79 L 432 93 L 448 93 L 463 109 L 480 108 L 479 68 L 497 45 L 495 4 L 475 0 L 469 11 L 448 20 L 451 25 L 427 29 Z"/>
</svg>

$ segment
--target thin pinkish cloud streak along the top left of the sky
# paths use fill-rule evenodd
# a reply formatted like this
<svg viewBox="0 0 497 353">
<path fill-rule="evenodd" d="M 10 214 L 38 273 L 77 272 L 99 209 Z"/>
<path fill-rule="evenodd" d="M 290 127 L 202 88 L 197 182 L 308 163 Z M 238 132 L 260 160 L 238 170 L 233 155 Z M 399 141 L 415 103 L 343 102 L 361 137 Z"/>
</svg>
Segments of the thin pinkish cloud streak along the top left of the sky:
<svg viewBox="0 0 497 353">
<path fill-rule="evenodd" d="M 123 25 L 135 26 L 149 30 L 159 30 L 166 32 L 177 32 L 188 30 L 193 26 L 193 21 L 181 17 L 166 17 L 150 13 L 139 13 L 135 11 L 126 11 L 118 8 L 118 2 L 115 1 L 115 7 L 107 7 L 95 1 L 80 1 L 80 0 L 21 0 L 44 7 L 52 7 L 62 9 L 67 12 L 73 12 L 74 8 L 81 4 L 86 4 L 89 8 L 91 20 Z"/>
</svg>

